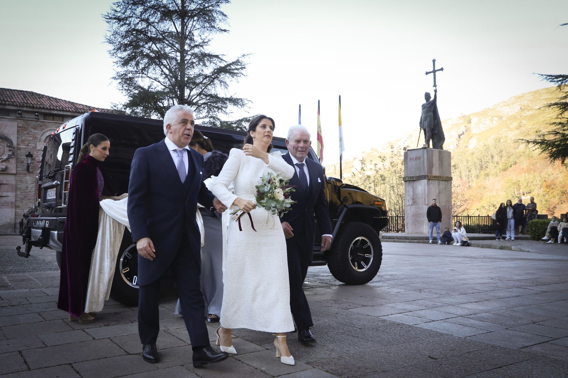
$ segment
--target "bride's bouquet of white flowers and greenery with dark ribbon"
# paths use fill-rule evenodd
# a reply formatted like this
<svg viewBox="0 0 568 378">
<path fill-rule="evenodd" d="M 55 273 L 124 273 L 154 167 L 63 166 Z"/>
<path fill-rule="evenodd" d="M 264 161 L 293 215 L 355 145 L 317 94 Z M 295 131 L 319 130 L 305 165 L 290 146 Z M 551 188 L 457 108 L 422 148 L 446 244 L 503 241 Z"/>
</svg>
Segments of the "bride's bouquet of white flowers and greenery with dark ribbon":
<svg viewBox="0 0 568 378">
<path fill-rule="evenodd" d="M 278 215 L 282 218 L 284 214 L 290 211 L 290 206 L 296 203 L 296 201 L 292 201 L 290 198 L 290 192 L 295 192 L 295 189 L 288 185 L 288 182 L 289 180 L 283 180 L 279 173 L 266 173 L 266 175 L 261 177 L 260 184 L 255 186 L 254 203 L 257 206 L 264 207 L 264 210 L 270 214 Z M 232 215 L 232 220 L 239 222 L 239 230 L 242 231 L 240 220 L 245 215 L 244 211 L 237 209 L 230 214 Z M 250 218 L 250 225 L 254 230 L 252 216 L 249 213 L 247 214 Z"/>
</svg>

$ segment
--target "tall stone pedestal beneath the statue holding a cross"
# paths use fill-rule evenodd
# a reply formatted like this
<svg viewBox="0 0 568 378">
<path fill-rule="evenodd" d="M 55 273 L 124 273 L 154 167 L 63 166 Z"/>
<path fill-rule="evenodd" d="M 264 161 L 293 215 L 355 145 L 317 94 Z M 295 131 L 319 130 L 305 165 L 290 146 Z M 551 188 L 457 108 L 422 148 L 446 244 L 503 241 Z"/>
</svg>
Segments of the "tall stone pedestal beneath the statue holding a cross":
<svg viewBox="0 0 568 378">
<path fill-rule="evenodd" d="M 426 210 L 433 198 L 442 210 L 441 234 L 452 222 L 452 153 L 433 148 L 404 151 L 406 233 L 429 232 Z"/>
</svg>

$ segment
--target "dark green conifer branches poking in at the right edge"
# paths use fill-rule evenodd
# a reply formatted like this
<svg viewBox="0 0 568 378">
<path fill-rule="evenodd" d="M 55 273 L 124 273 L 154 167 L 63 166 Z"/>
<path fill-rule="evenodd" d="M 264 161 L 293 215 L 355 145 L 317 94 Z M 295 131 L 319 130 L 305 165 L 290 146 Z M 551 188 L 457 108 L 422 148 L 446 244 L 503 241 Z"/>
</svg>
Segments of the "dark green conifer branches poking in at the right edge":
<svg viewBox="0 0 568 378">
<path fill-rule="evenodd" d="M 568 23 L 561 26 L 567 26 Z M 546 104 L 546 108 L 556 109 L 558 112 L 556 120 L 550 122 L 553 130 L 544 131 L 534 139 L 520 139 L 547 154 L 553 162 L 560 160 L 566 164 L 568 159 L 568 75 L 546 75 L 538 74 L 543 80 L 556 84 L 561 95 L 557 101 Z"/>
</svg>

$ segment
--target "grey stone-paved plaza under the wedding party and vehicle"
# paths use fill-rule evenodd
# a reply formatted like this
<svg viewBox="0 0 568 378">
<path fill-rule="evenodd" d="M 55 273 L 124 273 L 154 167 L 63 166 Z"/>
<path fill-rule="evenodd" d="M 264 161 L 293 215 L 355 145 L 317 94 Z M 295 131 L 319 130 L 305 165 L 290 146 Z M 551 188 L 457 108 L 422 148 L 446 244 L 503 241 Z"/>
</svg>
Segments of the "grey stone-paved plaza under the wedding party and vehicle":
<svg viewBox="0 0 568 378">
<path fill-rule="evenodd" d="M 568 377 L 566 245 L 548 254 L 384 243 L 381 271 L 364 286 L 310 268 L 317 343 L 289 334 L 295 366 L 275 358 L 270 334 L 241 329 L 238 355 L 193 368 L 174 293 L 160 308 L 162 360 L 145 363 L 136 308 L 110 300 L 94 323 L 69 322 L 56 309 L 55 253 L 34 248 L 25 260 L 19 240 L 0 237 L 2 378 Z"/>
</svg>

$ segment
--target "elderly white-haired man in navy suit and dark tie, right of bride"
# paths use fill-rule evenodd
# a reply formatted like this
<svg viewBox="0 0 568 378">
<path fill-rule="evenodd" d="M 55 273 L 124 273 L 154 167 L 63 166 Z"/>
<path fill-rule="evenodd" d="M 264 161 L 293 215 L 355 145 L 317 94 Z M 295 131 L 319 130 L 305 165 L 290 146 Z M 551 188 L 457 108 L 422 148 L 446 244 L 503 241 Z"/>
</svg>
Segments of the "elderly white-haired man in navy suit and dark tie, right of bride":
<svg viewBox="0 0 568 378">
<path fill-rule="evenodd" d="M 323 234 L 322 251 L 328 250 L 331 245 L 331 222 L 325 198 L 323 167 L 318 162 L 306 158 L 311 146 L 310 133 L 302 125 L 292 126 L 288 131 L 286 146 L 289 153 L 282 158 L 296 169 L 296 173 L 290 179 L 290 185 L 295 186 L 296 191 L 291 193 L 291 198 L 297 202 L 281 218 L 288 252 L 290 309 L 298 328 L 298 340 L 302 343 L 311 343 L 315 341 L 314 335 L 310 332 L 310 327 L 314 323 L 302 284 L 314 254 L 316 233 L 314 214 L 318 220 L 319 230 Z"/>
</svg>

